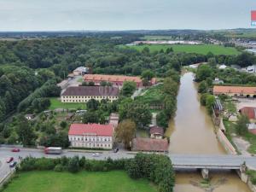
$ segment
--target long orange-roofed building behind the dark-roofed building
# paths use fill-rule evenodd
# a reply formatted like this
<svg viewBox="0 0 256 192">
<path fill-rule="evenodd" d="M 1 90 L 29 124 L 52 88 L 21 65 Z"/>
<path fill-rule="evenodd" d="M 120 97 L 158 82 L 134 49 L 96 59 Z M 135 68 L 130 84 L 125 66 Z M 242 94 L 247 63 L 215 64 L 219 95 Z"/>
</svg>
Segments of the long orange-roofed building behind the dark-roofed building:
<svg viewBox="0 0 256 192">
<path fill-rule="evenodd" d="M 137 87 L 143 86 L 143 80 L 140 77 L 132 77 L 125 75 L 106 75 L 106 74 L 85 74 L 84 82 L 94 82 L 101 84 L 102 81 L 110 82 L 115 86 L 123 86 L 125 81 L 132 81 L 137 84 Z M 150 84 L 156 84 L 156 79 L 151 79 Z"/>
</svg>

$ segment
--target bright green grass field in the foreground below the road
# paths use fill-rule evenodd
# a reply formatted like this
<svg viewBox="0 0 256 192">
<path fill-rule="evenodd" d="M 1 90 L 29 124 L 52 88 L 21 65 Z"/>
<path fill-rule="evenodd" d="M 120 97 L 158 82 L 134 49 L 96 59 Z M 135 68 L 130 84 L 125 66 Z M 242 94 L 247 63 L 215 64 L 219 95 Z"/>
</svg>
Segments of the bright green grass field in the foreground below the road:
<svg viewBox="0 0 256 192">
<path fill-rule="evenodd" d="M 23 172 L 3 192 L 156 192 L 145 179 L 125 172 Z"/>
</svg>

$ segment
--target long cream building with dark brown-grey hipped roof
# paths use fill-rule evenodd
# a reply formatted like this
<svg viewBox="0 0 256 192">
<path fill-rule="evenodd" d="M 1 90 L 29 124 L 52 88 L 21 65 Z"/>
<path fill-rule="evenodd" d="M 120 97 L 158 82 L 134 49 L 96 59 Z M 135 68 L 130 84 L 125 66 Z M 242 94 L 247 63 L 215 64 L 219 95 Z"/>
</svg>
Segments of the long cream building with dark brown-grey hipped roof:
<svg viewBox="0 0 256 192">
<path fill-rule="evenodd" d="M 106 99 L 110 102 L 119 98 L 119 89 L 108 86 L 79 86 L 68 87 L 61 94 L 61 102 L 88 102 L 90 99 L 95 99 L 101 102 Z"/>
</svg>

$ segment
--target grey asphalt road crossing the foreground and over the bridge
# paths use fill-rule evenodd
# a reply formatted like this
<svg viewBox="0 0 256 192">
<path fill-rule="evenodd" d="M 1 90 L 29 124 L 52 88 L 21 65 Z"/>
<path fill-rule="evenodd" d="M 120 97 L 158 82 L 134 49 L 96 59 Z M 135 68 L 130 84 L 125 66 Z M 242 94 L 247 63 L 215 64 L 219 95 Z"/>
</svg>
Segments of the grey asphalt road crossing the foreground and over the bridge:
<svg viewBox="0 0 256 192">
<path fill-rule="evenodd" d="M 36 158 L 47 157 L 57 158 L 61 156 L 73 157 L 79 155 L 84 156 L 90 160 L 106 160 L 110 157 L 113 160 L 121 158 L 132 158 L 134 154 L 127 153 L 126 151 L 119 151 L 113 153 L 112 151 L 102 151 L 99 156 L 93 156 L 93 152 L 79 152 L 79 151 L 68 151 L 64 150 L 62 154 L 44 154 L 44 150 L 20 148 L 20 152 L 11 152 L 11 148 L 0 148 L 0 180 L 5 177 L 11 168 L 6 160 L 9 157 L 14 157 L 15 161 L 19 160 L 19 156 L 25 158 L 26 156 L 32 156 Z M 204 166 L 240 166 L 244 161 L 247 162 L 247 166 L 256 170 L 256 157 L 250 156 L 239 156 L 239 155 L 197 155 L 197 154 L 168 154 L 172 160 L 173 166 L 177 167 L 204 167 Z"/>
</svg>

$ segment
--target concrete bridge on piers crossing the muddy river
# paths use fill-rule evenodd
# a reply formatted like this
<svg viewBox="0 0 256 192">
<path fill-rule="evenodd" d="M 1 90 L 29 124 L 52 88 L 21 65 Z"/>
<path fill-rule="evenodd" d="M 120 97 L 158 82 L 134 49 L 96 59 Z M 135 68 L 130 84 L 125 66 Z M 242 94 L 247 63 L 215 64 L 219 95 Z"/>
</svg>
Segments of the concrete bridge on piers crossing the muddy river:
<svg viewBox="0 0 256 192">
<path fill-rule="evenodd" d="M 208 178 L 211 170 L 235 170 L 244 180 L 246 169 L 256 170 L 256 157 L 241 155 L 196 155 L 169 154 L 172 165 L 178 170 L 200 170 L 204 178 Z M 246 179 L 246 178 L 245 178 Z"/>
</svg>

